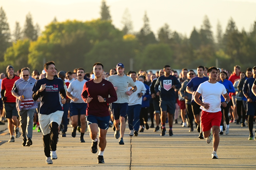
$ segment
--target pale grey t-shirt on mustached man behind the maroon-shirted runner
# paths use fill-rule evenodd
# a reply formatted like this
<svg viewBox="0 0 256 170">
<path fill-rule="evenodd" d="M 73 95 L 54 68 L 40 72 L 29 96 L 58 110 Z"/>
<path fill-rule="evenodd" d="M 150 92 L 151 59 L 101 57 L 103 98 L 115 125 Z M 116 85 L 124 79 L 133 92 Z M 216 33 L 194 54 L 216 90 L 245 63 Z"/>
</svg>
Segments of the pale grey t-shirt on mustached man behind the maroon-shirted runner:
<svg viewBox="0 0 256 170">
<path fill-rule="evenodd" d="M 80 82 L 76 79 L 69 84 L 67 92 L 73 92 L 72 96 L 78 98 L 77 101 L 70 100 L 70 103 L 85 103 L 81 97 L 85 82 L 87 82 L 87 80 L 83 80 Z"/>
</svg>

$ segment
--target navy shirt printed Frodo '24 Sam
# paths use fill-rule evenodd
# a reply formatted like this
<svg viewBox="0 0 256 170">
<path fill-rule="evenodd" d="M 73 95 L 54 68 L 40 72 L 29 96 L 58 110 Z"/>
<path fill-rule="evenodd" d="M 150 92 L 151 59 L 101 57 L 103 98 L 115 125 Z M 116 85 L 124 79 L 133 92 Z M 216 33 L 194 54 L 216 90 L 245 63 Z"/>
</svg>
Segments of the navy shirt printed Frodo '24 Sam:
<svg viewBox="0 0 256 170">
<path fill-rule="evenodd" d="M 53 80 L 49 80 L 46 77 L 37 80 L 32 89 L 33 93 L 37 92 L 42 84 L 46 84 L 46 87 L 42 92 L 39 92 L 39 113 L 43 115 L 49 115 L 58 110 L 63 111 L 59 101 L 59 92 L 65 90 L 63 80 L 55 77 Z"/>
</svg>

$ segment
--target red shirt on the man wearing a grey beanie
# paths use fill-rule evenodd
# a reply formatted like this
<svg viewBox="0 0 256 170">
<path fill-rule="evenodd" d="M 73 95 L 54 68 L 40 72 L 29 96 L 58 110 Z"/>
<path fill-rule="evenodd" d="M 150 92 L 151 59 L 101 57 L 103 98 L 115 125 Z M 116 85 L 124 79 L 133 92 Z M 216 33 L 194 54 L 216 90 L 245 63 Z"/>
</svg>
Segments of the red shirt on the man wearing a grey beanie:
<svg viewBox="0 0 256 170">
<path fill-rule="evenodd" d="M 9 102 L 9 103 L 16 102 L 16 97 L 12 95 L 12 88 L 15 81 L 18 79 L 19 79 L 18 76 L 13 75 L 12 79 L 9 79 L 8 77 L 6 77 L 2 80 L 1 89 L 5 90 L 5 95 L 4 95 L 6 97 L 5 102 Z"/>
</svg>

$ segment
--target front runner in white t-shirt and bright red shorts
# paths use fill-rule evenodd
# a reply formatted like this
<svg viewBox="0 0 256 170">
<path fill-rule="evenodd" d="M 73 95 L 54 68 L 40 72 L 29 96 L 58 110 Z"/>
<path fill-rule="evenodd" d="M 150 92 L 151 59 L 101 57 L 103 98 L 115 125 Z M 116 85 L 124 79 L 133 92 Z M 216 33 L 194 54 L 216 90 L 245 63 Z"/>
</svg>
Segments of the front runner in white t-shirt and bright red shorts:
<svg viewBox="0 0 256 170">
<path fill-rule="evenodd" d="M 195 93 L 194 100 L 202 109 L 201 124 L 204 138 L 207 143 L 211 143 L 211 128 L 213 133 L 213 152 L 212 159 L 218 159 L 217 149 L 220 142 L 219 128 L 221 122 L 221 108 L 226 107 L 230 101 L 230 97 L 223 84 L 218 83 L 218 71 L 216 67 L 210 67 L 207 71 L 209 80 L 201 83 Z M 199 97 L 202 95 L 202 101 Z M 223 95 L 225 101 L 221 103 L 220 95 Z"/>
</svg>

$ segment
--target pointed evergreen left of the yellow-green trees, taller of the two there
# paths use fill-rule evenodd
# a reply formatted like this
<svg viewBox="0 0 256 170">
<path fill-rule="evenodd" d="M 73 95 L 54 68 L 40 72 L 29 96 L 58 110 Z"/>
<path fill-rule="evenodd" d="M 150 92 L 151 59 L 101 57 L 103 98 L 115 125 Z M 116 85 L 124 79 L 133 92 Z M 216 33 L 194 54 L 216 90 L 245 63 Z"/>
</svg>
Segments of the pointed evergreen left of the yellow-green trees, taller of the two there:
<svg viewBox="0 0 256 170">
<path fill-rule="evenodd" d="M 27 38 L 32 41 L 37 40 L 37 32 L 36 32 L 35 26 L 33 25 L 32 15 L 30 13 L 28 13 L 26 16 L 26 22 L 25 22 L 24 31 L 23 31 L 23 38 L 24 39 Z"/>
</svg>

